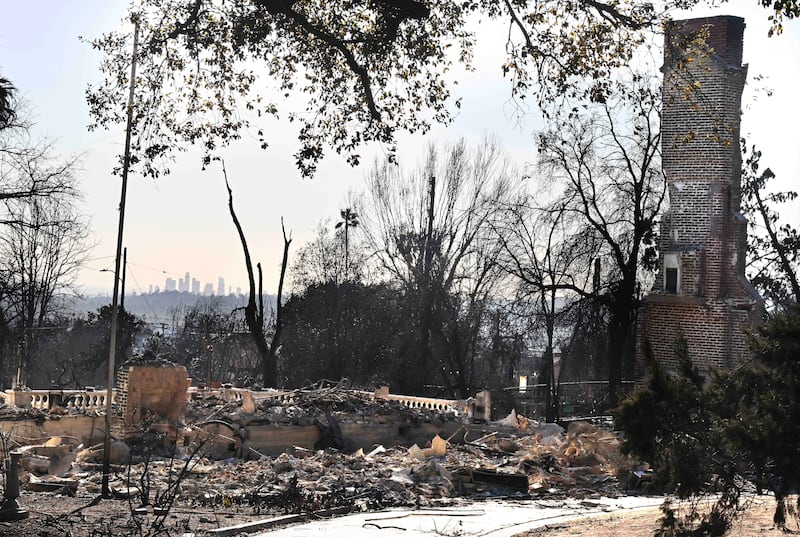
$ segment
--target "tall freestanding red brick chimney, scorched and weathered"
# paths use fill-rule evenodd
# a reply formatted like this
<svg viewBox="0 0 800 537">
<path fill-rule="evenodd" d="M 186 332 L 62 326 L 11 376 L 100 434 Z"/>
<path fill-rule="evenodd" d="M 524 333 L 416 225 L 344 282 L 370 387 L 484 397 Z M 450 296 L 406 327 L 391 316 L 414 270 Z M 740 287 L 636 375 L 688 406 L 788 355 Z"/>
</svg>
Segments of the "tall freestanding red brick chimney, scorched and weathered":
<svg viewBox="0 0 800 537">
<path fill-rule="evenodd" d="M 666 28 L 661 151 L 670 207 L 656 282 L 639 315 L 640 366 L 645 339 L 667 369 L 676 365 L 681 336 L 701 369 L 728 368 L 748 355 L 744 330 L 757 320 L 761 299 L 744 275 L 747 221 L 740 213 L 744 26 L 720 16 Z"/>
</svg>

